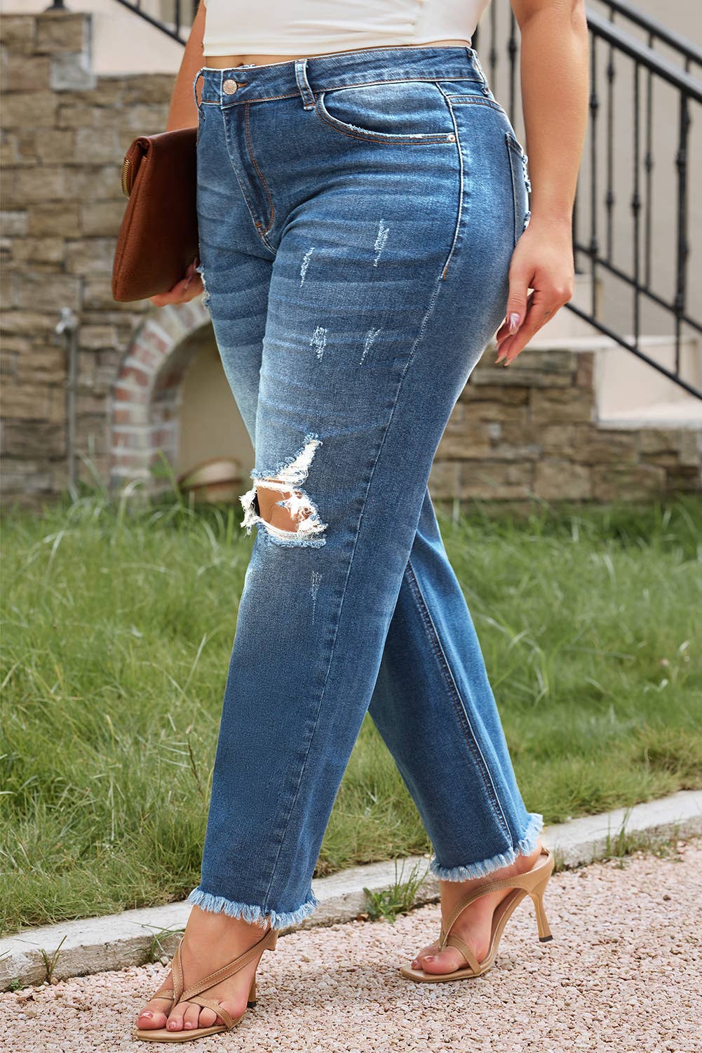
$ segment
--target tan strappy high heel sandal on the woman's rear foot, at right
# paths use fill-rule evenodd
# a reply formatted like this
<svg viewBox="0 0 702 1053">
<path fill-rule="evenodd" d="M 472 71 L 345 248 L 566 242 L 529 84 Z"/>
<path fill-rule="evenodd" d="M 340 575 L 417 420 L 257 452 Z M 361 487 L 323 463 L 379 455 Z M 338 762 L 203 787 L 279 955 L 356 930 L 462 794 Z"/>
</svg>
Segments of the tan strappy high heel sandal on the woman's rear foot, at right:
<svg viewBox="0 0 702 1053">
<path fill-rule="evenodd" d="M 499 881 L 486 881 L 485 885 L 481 885 L 472 892 L 468 892 L 463 899 L 454 908 L 448 922 L 444 929 L 443 921 L 441 923 L 441 935 L 439 936 L 439 950 L 442 951 L 444 947 L 449 945 L 450 947 L 457 947 L 461 954 L 464 956 L 468 963 L 468 967 L 461 966 L 458 969 L 454 969 L 450 973 L 425 973 L 423 969 L 413 969 L 410 966 L 400 966 L 400 972 L 407 979 L 416 980 L 418 984 L 441 984 L 444 980 L 461 980 L 467 979 L 473 976 L 482 976 L 486 973 L 488 969 L 495 965 L 495 959 L 497 957 L 497 949 L 500 942 L 500 937 L 504 931 L 504 927 L 507 920 L 517 907 L 518 903 L 522 901 L 524 896 L 530 896 L 536 908 L 537 914 L 537 925 L 539 927 L 539 939 L 542 943 L 554 937 L 550 934 L 550 929 L 548 928 L 548 922 L 546 920 L 546 914 L 543 909 L 543 893 L 548 878 L 554 872 L 554 853 L 548 849 L 542 848 L 541 855 L 535 862 L 531 870 L 527 870 L 525 874 L 518 874 L 514 877 L 504 877 Z M 483 958 L 482 961 L 478 961 L 477 957 L 470 950 L 470 948 L 465 943 L 460 936 L 449 935 L 450 927 L 454 925 L 456 919 L 460 914 L 468 907 L 469 903 L 475 902 L 480 896 L 484 896 L 487 892 L 498 892 L 500 889 L 512 889 L 513 891 L 508 896 L 505 896 L 500 903 L 498 903 L 495 914 L 493 915 L 493 933 L 490 937 L 490 946 L 487 951 L 487 956 Z"/>
</svg>

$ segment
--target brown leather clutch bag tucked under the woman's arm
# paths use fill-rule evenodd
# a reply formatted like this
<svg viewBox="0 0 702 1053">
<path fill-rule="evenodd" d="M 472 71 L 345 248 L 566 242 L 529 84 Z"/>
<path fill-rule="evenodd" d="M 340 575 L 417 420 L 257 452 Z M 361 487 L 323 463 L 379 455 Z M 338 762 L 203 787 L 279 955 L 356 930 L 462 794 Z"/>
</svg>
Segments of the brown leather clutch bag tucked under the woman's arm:
<svg viewBox="0 0 702 1053">
<path fill-rule="evenodd" d="M 129 200 L 113 264 L 119 302 L 167 293 L 198 256 L 196 137 L 197 128 L 142 135 L 124 155 Z"/>
</svg>

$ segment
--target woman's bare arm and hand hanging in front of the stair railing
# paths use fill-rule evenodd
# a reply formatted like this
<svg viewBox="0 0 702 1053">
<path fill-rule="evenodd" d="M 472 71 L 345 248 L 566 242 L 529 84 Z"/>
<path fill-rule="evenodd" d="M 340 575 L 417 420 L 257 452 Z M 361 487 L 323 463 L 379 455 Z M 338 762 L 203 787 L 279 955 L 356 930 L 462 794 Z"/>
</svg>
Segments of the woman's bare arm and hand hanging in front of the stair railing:
<svg viewBox="0 0 702 1053">
<path fill-rule="evenodd" d="M 497 361 L 505 365 L 573 296 L 573 205 L 589 91 L 584 0 L 512 0 L 512 7 L 522 42 L 531 217 L 512 257 L 497 333 Z"/>
</svg>

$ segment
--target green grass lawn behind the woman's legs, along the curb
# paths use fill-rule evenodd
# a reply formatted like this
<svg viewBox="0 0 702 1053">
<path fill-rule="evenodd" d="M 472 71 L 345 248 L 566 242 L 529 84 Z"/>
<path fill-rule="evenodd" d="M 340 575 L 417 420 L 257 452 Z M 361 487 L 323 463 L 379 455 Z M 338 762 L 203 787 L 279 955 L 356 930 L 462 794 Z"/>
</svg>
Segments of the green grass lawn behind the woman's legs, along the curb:
<svg viewBox="0 0 702 1053">
<path fill-rule="evenodd" d="M 702 503 L 441 515 L 527 808 L 702 786 Z M 235 510 L 87 494 L 6 514 L 2 929 L 198 882 L 252 538 Z M 316 874 L 430 845 L 366 717 Z"/>
</svg>

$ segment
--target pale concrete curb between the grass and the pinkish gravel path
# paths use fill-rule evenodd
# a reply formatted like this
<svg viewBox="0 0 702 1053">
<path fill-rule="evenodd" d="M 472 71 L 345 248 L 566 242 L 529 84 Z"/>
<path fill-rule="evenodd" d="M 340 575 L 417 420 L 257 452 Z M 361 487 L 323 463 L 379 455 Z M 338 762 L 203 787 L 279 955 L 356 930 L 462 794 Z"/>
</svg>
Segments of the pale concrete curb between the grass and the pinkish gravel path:
<svg viewBox="0 0 702 1053">
<path fill-rule="evenodd" d="M 624 838 L 629 845 L 648 846 L 671 836 L 696 834 L 702 834 L 702 791 L 686 790 L 630 809 L 545 827 L 543 842 L 554 850 L 561 866 L 578 867 L 619 854 Z M 420 873 L 426 871 L 428 856 L 398 860 L 397 874 L 395 862 L 376 862 L 319 878 L 313 881 L 313 891 L 320 901 L 314 915 L 281 932 L 350 921 L 367 910 L 364 888 L 373 892 L 392 888 L 396 876 L 406 881 L 415 866 Z M 426 874 L 415 906 L 438 899 L 439 882 Z M 0 940 L 0 990 L 7 990 L 11 984 L 27 987 L 44 982 L 47 975 L 44 954 L 48 961 L 56 955 L 52 974 L 55 980 L 171 957 L 189 911 L 187 902 L 167 903 L 25 929 Z"/>
</svg>

